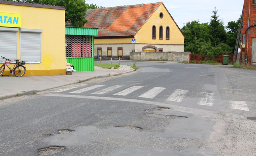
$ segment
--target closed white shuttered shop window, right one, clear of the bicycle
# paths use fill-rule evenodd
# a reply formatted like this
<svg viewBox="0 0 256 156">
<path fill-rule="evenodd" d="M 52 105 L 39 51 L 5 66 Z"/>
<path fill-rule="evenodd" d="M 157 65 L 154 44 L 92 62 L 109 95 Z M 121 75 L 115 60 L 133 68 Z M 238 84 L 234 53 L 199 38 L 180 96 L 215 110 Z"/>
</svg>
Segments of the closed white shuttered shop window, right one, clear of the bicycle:
<svg viewBox="0 0 256 156">
<path fill-rule="evenodd" d="M 38 29 L 20 29 L 20 59 L 28 63 L 41 61 L 41 33 Z"/>
</svg>

